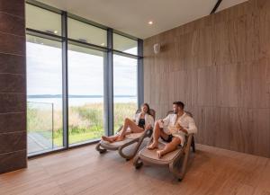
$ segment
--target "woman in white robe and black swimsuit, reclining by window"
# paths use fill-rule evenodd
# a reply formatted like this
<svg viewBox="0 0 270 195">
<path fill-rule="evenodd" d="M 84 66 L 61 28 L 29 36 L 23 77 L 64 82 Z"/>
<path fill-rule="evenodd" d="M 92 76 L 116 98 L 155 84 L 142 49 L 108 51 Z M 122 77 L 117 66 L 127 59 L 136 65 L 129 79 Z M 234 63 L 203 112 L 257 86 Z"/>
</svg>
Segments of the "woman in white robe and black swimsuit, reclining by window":
<svg viewBox="0 0 270 195">
<path fill-rule="evenodd" d="M 121 141 L 126 135 L 130 133 L 141 133 L 146 129 L 152 129 L 154 126 L 154 118 L 150 114 L 148 103 L 143 103 L 140 107 L 140 112 L 135 115 L 135 120 L 126 118 L 123 127 L 115 136 L 106 137 L 102 139 L 108 142 Z"/>
</svg>

